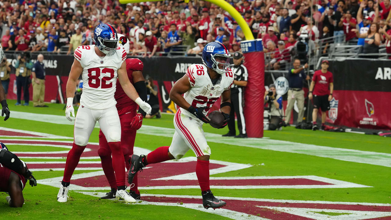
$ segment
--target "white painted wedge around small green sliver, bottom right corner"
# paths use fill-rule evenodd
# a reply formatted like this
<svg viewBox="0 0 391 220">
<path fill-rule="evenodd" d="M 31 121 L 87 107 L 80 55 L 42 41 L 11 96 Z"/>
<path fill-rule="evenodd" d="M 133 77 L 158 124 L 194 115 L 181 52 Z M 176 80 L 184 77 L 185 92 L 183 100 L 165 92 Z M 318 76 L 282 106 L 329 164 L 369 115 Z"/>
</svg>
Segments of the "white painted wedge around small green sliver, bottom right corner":
<svg viewBox="0 0 391 220">
<path fill-rule="evenodd" d="M 380 218 L 391 216 L 391 212 L 380 212 L 380 211 L 352 211 L 352 210 L 341 210 L 341 209 L 309 209 L 309 208 L 292 208 L 292 207 L 270 207 L 270 206 L 257 206 L 260 208 L 273 209 L 276 211 L 289 213 L 292 215 L 303 216 L 305 218 L 311 218 L 315 220 L 360 220 L 369 218 Z M 323 215 L 315 212 L 331 212 L 331 213 L 349 213 L 345 215 Z"/>
</svg>

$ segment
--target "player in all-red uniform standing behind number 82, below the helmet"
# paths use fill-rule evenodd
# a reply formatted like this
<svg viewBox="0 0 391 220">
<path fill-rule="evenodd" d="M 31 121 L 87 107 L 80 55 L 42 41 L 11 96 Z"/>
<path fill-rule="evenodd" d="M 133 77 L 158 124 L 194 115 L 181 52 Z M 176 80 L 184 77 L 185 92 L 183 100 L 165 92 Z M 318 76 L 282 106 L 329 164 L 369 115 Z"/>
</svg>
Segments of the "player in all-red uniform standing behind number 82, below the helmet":
<svg viewBox="0 0 391 220">
<path fill-rule="evenodd" d="M 136 91 L 142 100 L 147 100 L 147 87 L 143 77 L 143 63 L 139 59 L 126 59 L 126 72 L 129 81 L 134 85 Z M 117 110 L 121 123 L 121 148 L 124 153 L 126 169 L 129 170 L 129 158 L 133 154 L 133 146 L 135 144 L 136 131 L 141 127 L 145 112 L 140 108 L 136 114 L 137 104 L 125 94 L 122 87 L 117 84 L 114 98 L 117 101 Z M 106 137 L 102 131 L 99 131 L 99 157 L 102 161 L 102 168 L 106 175 L 111 191 L 106 193 L 106 196 L 101 197 L 115 198 L 117 192 L 116 176 L 111 159 L 111 150 L 109 148 Z M 114 161 L 115 162 L 115 161 Z M 119 162 L 119 161 L 118 161 Z M 117 172 L 116 172 L 117 173 Z M 120 179 L 117 177 L 117 181 Z M 137 189 L 137 177 L 133 181 L 134 186 L 130 188 L 130 195 L 135 199 L 140 199 L 140 191 Z"/>
</svg>

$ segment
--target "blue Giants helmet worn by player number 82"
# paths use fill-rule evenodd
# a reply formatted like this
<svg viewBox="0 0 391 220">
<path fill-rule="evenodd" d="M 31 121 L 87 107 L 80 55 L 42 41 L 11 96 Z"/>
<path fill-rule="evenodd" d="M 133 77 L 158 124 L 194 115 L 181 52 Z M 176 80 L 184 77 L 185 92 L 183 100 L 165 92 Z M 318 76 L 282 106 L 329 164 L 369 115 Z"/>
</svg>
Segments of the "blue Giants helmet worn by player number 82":
<svg viewBox="0 0 391 220">
<path fill-rule="evenodd" d="M 118 36 L 113 26 L 107 23 L 101 23 L 95 27 L 94 31 L 95 46 L 106 55 L 115 54 L 117 50 Z"/>
</svg>

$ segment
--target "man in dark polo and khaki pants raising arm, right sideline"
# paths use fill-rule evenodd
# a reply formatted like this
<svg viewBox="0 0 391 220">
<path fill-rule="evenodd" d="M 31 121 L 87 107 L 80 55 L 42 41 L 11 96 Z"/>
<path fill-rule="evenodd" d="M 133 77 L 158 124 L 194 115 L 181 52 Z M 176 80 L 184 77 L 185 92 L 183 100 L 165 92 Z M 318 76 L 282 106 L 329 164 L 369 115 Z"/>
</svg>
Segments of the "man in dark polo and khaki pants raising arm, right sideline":
<svg viewBox="0 0 391 220">
<path fill-rule="evenodd" d="M 308 63 L 300 67 L 301 63 L 299 59 L 293 61 L 293 68 L 288 70 L 289 74 L 289 90 L 288 90 L 288 103 L 285 110 L 285 123 L 289 123 L 291 120 L 291 112 L 294 102 L 297 100 L 297 107 L 299 108 L 299 114 L 297 117 L 297 123 L 303 121 L 304 117 L 304 91 L 303 91 L 303 79 L 309 80 L 310 76 L 304 73 L 304 69 L 308 68 Z"/>
</svg>

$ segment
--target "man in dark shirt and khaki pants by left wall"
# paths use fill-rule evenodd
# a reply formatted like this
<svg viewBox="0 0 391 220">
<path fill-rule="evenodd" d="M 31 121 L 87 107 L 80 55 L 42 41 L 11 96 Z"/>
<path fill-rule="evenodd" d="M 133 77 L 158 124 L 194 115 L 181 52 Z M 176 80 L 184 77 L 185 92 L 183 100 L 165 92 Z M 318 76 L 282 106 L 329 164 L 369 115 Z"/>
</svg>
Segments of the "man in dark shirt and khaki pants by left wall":
<svg viewBox="0 0 391 220">
<path fill-rule="evenodd" d="M 43 55 L 39 54 L 34 67 L 32 67 L 32 104 L 34 107 L 48 107 L 45 100 L 45 65 Z"/>
</svg>

